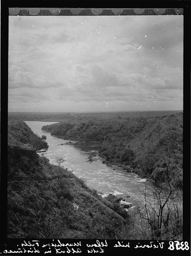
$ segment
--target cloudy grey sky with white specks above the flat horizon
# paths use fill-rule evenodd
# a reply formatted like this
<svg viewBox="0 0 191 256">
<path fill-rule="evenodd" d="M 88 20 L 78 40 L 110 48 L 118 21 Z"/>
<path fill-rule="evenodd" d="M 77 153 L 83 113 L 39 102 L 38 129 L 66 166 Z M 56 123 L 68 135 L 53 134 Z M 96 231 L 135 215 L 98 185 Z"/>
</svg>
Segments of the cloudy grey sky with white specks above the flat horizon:
<svg viewBox="0 0 191 256">
<path fill-rule="evenodd" d="M 9 112 L 182 110 L 183 16 L 9 16 Z"/>
</svg>

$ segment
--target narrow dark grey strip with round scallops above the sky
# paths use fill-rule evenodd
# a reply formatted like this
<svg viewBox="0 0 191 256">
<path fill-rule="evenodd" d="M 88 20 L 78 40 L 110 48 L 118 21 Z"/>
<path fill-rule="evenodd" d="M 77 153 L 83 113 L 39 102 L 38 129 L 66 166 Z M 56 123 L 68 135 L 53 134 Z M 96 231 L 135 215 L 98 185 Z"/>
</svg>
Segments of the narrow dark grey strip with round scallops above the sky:
<svg viewBox="0 0 191 256">
<path fill-rule="evenodd" d="M 183 8 L 9 8 L 9 15 L 74 16 L 74 15 L 183 15 Z"/>
</svg>

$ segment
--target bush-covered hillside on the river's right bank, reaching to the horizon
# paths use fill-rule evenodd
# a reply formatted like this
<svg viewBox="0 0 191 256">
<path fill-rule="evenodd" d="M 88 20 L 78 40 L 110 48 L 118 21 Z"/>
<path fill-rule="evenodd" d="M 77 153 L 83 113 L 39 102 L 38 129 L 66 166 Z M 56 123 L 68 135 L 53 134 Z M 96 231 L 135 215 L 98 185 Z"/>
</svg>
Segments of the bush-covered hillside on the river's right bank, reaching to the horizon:
<svg viewBox="0 0 191 256">
<path fill-rule="evenodd" d="M 99 141 L 99 155 L 106 163 L 155 181 L 157 168 L 164 167 L 164 158 L 170 155 L 175 182 L 181 187 L 182 112 L 156 114 L 81 115 L 42 129 L 69 140 Z"/>
</svg>

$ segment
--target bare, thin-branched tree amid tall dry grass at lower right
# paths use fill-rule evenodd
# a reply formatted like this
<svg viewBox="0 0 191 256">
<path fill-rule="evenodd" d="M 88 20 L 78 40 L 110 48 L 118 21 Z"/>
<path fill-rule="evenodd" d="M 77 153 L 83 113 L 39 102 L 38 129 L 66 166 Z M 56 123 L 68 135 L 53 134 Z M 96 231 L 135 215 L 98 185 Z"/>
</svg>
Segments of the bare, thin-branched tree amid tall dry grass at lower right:
<svg viewBox="0 0 191 256">
<path fill-rule="evenodd" d="M 147 200 L 145 186 L 145 212 L 137 208 L 139 216 L 148 221 L 153 238 L 182 230 L 182 196 L 174 183 L 174 154 L 168 150 L 162 154 L 162 160 L 152 173 L 159 185 L 153 188 L 153 204 Z"/>
</svg>

